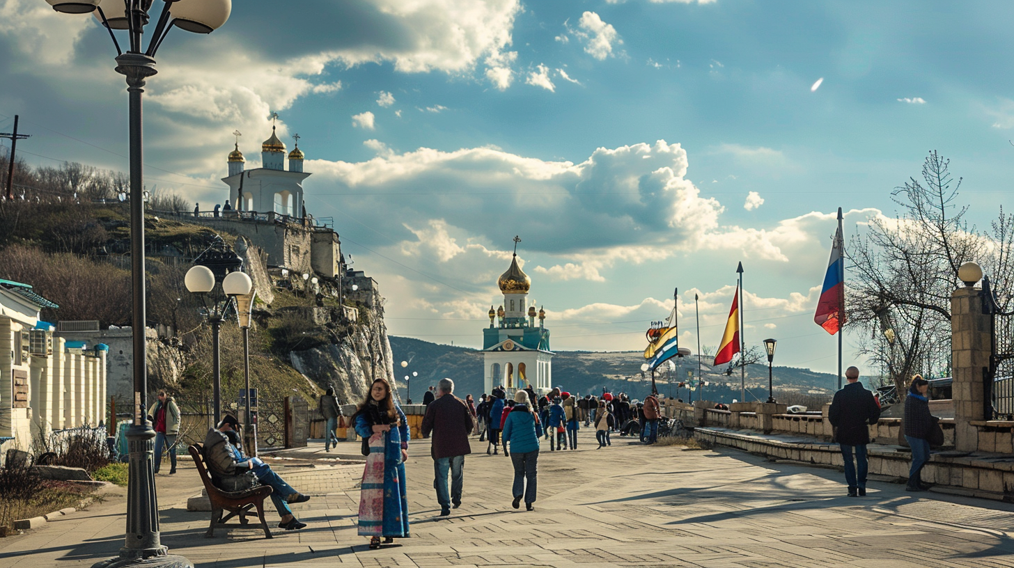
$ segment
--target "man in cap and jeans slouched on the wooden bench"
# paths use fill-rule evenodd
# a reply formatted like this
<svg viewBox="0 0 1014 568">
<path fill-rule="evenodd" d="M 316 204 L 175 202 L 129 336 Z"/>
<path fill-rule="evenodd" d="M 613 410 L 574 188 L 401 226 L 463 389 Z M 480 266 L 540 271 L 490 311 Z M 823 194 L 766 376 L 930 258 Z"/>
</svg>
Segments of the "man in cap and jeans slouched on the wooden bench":
<svg viewBox="0 0 1014 568">
<path fill-rule="evenodd" d="M 289 503 L 309 501 L 309 495 L 299 493 L 285 483 L 271 466 L 260 457 L 246 457 L 240 448 L 239 422 L 234 416 L 226 415 L 218 423 L 218 429 L 208 430 L 204 440 L 204 459 L 215 486 L 226 492 L 244 491 L 258 485 L 271 486 L 271 500 L 282 516 L 279 528 L 294 530 L 306 526 L 289 509 Z"/>
</svg>

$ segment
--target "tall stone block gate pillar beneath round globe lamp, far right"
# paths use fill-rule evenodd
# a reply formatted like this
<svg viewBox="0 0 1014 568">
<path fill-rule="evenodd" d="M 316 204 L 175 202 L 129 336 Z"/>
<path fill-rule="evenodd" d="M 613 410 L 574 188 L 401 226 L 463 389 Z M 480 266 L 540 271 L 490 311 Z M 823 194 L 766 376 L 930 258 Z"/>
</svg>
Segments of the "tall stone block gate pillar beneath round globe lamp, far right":
<svg viewBox="0 0 1014 568">
<path fill-rule="evenodd" d="M 983 313 L 979 288 L 959 288 L 951 294 L 951 374 L 954 384 L 954 447 L 959 451 L 979 449 L 975 420 L 986 416 L 984 369 L 990 368 L 993 352 L 992 315 Z"/>
</svg>

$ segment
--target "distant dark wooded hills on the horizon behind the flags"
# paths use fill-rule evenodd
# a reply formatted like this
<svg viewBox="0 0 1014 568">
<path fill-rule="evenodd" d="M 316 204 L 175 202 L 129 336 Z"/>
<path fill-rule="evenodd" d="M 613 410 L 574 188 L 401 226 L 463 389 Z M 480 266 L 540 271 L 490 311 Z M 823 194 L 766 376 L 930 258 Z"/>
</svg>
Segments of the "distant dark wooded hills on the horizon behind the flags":
<svg viewBox="0 0 1014 568">
<path fill-rule="evenodd" d="M 413 402 L 421 402 L 423 393 L 445 376 L 454 379 L 455 394 L 461 398 L 467 394 L 478 398 L 483 393 L 481 351 L 395 336 L 390 336 L 390 348 L 394 355 L 394 376 L 403 388 L 402 393 L 405 393 L 405 375 L 412 371 L 419 373 L 412 380 Z M 400 362 L 409 360 L 411 364 L 403 369 Z M 672 396 L 687 401 L 691 397 L 686 388 L 678 388 L 676 383 L 680 379 L 686 380 L 687 371 L 697 376 L 698 361 L 697 358 L 675 361 L 677 369 L 672 373 L 672 384 L 665 382 L 665 373 L 656 375 L 656 384 L 662 395 L 668 396 L 671 393 Z M 601 393 L 605 387 L 612 393 L 623 392 L 632 398 L 643 399 L 651 390 L 651 379 L 650 376 L 641 377 L 642 363 L 644 356 L 640 351 L 558 351 L 553 358 L 553 384 L 582 395 Z M 704 387 L 705 399 L 730 403 L 733 399 L 740 398 L 738 369 L 732 376 L 726 376 L 721 372 L 725 370 L 725 365 L 713 367 L 703 362 L 701 367 L 704 380 L 710 383 Z M 830 400 L 838 382 L 837 375 L 809 369 L 776 366 L 773 370 L 775 398 L 788 404 L 815 407 L 820 402 Z M 748 401 L 768 399 L 766 365 L 747 366 L 746 388 L 749 392 L 746 396 Z M 700 393 L 694 393 L 693 399 L 699 398 Z"/>
</svg>

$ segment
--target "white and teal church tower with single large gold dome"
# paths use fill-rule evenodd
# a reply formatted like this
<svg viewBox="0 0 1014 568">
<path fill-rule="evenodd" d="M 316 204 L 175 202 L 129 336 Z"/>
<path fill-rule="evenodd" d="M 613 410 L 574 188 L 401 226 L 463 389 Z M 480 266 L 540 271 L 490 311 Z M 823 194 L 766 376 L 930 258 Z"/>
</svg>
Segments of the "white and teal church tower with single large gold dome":
<svg viewBox="0 0 1014 568">
<path fill-rule="evenodd" d="M 490 327 L 483 330 L 486 393 L 492 393 L 501 384 L 508 393 L 530 384 L 538 395 L 552 387 L 554 353 L 550 351 L 546 310 L 536 312 L 534 305 L 527 305 L 531 278 L 517 264 L 517 243 L 520 241 L 514 237 L 510 268 L 497 280 L 504 303 L 496 310 L 490 306 Z"/>
</svg>

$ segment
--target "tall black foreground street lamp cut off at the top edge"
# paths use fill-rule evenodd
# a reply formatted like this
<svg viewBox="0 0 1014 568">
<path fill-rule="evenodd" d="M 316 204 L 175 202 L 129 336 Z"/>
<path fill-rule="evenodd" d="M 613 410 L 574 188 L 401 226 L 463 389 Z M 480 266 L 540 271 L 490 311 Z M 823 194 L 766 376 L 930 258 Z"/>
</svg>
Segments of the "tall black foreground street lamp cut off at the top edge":
<svg viewBox="0 0 1014 568">
<path fill-rule="evenodd" d="M 130 117 L 130 211 L 131 211 L 131 290 L 133 295 L 134 424 L 127 431 L 130 447 L 130 477 L 127 490 L 126 544 L 116 558 L 95 566 L 112 568 L 145 566 L 192 566 L 182 556 L 169 555 L 161 544 L 158 530 L 158 499 L 152 474 L 155 431 L 147 421 L 147 357 L 145 353 L 145 266 L 144 266 L 144 152 L 142 144 L 141 93 L 148 77 L 156 73 L 155 52 L 173 26 L 208 33 L 229 18 L 231 0 L 163 0 L 148 48 L 142 46 L 144 27 L 153 0 L 124 0 L 122 12 L 113 21 L 98 7 L 100 0 L 46 0 L 53 9 L 69 14 L 98 12 L 117 49 L 118 73 L 127 79 Z M 115 2 L 116 4 L 116 2 Z M 121 17 L 122 14 L 122 17 Z M 120 49 L 114 29 L 127 30 L 127 53 Z"/>
</svg>

